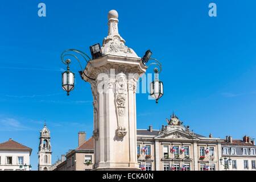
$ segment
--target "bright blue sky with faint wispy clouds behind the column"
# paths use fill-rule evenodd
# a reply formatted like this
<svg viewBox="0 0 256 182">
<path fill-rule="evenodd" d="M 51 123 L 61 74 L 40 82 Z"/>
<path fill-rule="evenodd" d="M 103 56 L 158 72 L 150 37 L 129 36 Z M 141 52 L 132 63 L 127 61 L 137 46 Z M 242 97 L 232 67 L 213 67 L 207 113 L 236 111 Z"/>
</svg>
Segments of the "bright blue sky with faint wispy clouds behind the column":
<svg viewBox="0 0 256 182">
<path fill-rule="evenodd" d="M 38 4 L 47 16 L 39 18 Z M 210 2 L 217 17 L 208 16 Z M 0 142 L 33 149 L 51 130 L 52 161 L 77 147 L 77 132 L 92 135 L 90 85 L 77 75 L 69 97 L 61 89 L 67 48 L 89 54 L 108 33 L 108 11 L 119 13 L 119 34 L 139 56 L 151 49 L 163 64 L 164 96 L 156 105 L 137 95 L 137 127 L 159 129 L 174 111 L 201 135 L 256 137 L 256 2 L 244 1 L 2 1 L 0 3 Z M 151 72 L 151 70 L 148 70 Z"/>
</svg>

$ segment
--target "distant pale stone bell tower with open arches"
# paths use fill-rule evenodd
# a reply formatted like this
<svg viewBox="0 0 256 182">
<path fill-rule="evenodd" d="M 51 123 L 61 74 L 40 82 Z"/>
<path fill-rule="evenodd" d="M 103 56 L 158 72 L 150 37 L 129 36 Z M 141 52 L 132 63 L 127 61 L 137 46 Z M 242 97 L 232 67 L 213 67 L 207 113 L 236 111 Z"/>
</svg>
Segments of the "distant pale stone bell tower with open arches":
<svg viewBox="0 0 256 182">
<path fill-rule="evenodd" d="M 50 171 L 52 162 L 52 147 L 50 131 L 44 123 L 43 129 L 40 131 L 40 143 L 38 150 L 38 171 Z"/>
</svg>

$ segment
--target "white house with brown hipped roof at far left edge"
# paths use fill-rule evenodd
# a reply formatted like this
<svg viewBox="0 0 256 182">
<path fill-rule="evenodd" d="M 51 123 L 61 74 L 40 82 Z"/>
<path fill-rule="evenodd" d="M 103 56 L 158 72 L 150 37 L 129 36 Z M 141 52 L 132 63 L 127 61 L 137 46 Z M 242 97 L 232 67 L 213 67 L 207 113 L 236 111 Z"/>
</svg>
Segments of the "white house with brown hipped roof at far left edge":
<svg viewBox="0 0 256 182">
<path fill-rule="evenodd" d="M 0 171 L 29 170 L 32 149 L 13 139 L 0 143 Z"/>
</svg>

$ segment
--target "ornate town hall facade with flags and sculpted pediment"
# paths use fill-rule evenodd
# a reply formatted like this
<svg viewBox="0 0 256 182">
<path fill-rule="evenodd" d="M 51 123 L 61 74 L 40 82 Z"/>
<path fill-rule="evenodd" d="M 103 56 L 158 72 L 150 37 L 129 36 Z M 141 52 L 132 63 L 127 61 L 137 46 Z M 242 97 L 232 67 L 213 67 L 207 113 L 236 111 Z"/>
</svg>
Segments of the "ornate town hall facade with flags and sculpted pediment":
<svg viewBox="0 0 256 182">
<path fill-rule="evenodd" d="M 155 171 L 220 170 L 220 138 L 193 133 L 172 114 L 162 129 L 137 130 L 137 158 L 142 169 Z"/>
</svg>

